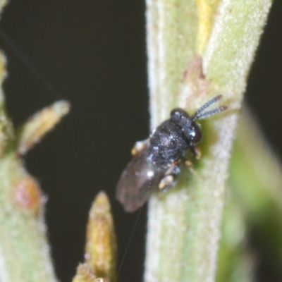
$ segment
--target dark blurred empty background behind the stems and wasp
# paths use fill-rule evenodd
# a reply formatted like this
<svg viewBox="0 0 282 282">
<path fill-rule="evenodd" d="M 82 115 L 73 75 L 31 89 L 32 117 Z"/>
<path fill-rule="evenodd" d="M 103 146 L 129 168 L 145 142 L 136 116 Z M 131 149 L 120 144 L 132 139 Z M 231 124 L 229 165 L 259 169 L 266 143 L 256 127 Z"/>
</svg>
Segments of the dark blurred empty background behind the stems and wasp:
<svg viewBox="0 0 282 282">
<path fill-rule="evenodd" d="M 280 155 L 281 13 L 276 1 L 246 94 Z M 149 133 L 144 1 L 11 0 L 1 17 L 0 48 L 8 59 L 4 90 L 16 125 L 58 99 L 72 104 L 71 114 L 25 158 L 49 198 L 59 279 L 71 281 L 82 262 L 87 216 L 99 190 L 111 198 L 121 262 L 137 213 L 125 214 L 114 200 L 116 183 L 134 142 Z M 119 281 L 142 281 L 145 219 L 144 208 Z"/>
</svg>

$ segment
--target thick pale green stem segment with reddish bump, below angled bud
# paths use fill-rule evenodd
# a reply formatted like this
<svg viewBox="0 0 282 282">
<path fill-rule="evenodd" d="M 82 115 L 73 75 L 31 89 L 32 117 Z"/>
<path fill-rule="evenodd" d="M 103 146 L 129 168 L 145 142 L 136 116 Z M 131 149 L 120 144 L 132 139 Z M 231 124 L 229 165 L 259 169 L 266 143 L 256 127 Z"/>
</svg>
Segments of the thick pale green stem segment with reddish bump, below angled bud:
<svg viewBox="0 0 282 282">
<path fill-rule="evenodd" d="M 56 281 L 45 234 L 43 198 L 37 197 L 33 181 L 16 154 L 1 158 L 0 281 L 3 282 Z"/>
</svg>

